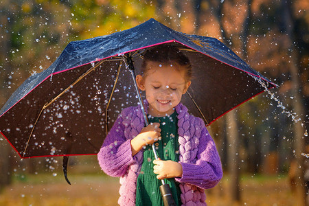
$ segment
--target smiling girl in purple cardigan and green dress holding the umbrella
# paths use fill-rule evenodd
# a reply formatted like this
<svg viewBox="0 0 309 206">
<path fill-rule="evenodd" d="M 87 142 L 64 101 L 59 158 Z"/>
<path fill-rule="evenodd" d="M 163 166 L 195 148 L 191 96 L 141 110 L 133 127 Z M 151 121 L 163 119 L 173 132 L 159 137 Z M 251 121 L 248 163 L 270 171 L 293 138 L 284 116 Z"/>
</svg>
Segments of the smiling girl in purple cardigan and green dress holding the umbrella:
<svg viewBox="0 0 309 206">
<path fill-rule="evenodd" d="M 120 176 L 119 205 L 163 205 L 161 179 L 170 185 L 176 205 L 206 205 L 204 189 L 222 178 L 203 120 L 180 103 L 191 77 L 190 61 L 176 47 L 159 45 L 144 55 L 136 80 L 146 93 L 150 124 L 145 127 L 139 106 L 125 108 L 98 153 L 102 170 Z M 152 143 L 161 159 L 155 160 Z"/>
</svg>

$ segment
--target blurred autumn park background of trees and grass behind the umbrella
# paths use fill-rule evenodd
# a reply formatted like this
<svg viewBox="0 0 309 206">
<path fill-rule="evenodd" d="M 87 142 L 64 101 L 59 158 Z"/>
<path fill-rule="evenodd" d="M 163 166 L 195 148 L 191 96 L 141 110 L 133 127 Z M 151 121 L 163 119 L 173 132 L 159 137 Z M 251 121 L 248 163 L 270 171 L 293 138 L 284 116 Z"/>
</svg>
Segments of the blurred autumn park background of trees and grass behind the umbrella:
<svg viewBox="0 0 309 206">
<path fill-rule="evenodd" d="M 224 177 L 208 205 L 308 205 L 309 1 L 1 0 L 0 108 L 70 41 L 154 18 L 179 32 L 218 38 L 279 85 L 208 127 Z M 277 101 L 275 100 L 277 99 Z M 282 110 L 295 116 L 292 118 Z M 0 136 L 0 205 L 117 205 L 119 180 L 96 156 L 21 160 Z M 307 202 L 306 202 L 307 201 Z"/>
</svg>

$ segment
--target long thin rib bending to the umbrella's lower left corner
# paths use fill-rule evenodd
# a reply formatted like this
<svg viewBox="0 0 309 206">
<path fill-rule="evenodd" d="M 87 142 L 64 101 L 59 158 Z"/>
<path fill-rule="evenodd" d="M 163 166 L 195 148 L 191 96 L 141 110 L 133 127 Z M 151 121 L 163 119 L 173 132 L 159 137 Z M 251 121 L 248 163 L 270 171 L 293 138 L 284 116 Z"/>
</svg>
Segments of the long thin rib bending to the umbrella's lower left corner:
<svg viewBox="0 0 309 206">
<path fill-rule="evenodd" d="M 41 112 L 38 114 L 38 117 L 36 117 L 36 122 L 34 122 L 34 125 L 32 127 L 31 133 L 29 135 L 27 144 L 25 146 L 25 150 L 23 151 L 23 157 L 25 156 L 25 151 L 27 150 L 27 147 L 29 145 L 30 139 L 32 137 L 32 134 L 34 132 L 34 128 L 36 126 L 36 123 L 38 123 L 38 119 L 41 117 L 41 114 L 43 112 L 43 110 L 45 110 L 45 108 L 47 108 L 47 106 L 49 106 L 50 104 L 52 104 L 53 102 L 55 102 L 58 98 L 60 98 L 60 96 L 62 96 L 66 91 L 68 91 L 71 87 L 73 87 L 73 85 L 75 85 L 76 83 L 78 83 L 80 80 L 82 80 L 82 78 L 84 78 L 85 76 L 87 76 L 91 71 L 93 71 L 94 69 L 96 69 L 97 67 L 99 67 L 100 65 L 102 65 L 103 62 L 105 62 L 106 60 L 102 60 L 100 62 L 98 62 L 95 66 L 91 67 L 90 69 L 88 69 L 86 72 L 84 72 L 82 74 L 82 76 L 80 76 L 77 80 L 75 80 L 75 82 L 73 82 L 72 84 L 69 85 L 69 87 L 67 87 L 65 90 L 63 90 L 61 93 L 59 93 L 56 98 L 53 98 L 52 100 L 50 100 L 49 102 L 46 102 L 43 106 L 43 108 L 41 109 Z"/>
</svg>

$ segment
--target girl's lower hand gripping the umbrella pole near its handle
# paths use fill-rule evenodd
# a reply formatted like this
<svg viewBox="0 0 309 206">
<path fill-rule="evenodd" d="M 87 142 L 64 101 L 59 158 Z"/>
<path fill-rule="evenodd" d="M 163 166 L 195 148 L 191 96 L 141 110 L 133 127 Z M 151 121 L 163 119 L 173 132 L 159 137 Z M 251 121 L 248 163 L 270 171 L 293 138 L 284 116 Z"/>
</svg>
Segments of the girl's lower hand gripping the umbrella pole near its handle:
<svg viewBox="0 0 309 206">
<path fill-rule="evenodd" d="M 153 172 L 157 175 L 157 179 L 167 179 L 173 177 L 183 176 L 183 167 L 180 163 L 172 160 L 163 161 L 161 159 L 155 159 L 153 161 L 155 166 Z"/>
</svg>

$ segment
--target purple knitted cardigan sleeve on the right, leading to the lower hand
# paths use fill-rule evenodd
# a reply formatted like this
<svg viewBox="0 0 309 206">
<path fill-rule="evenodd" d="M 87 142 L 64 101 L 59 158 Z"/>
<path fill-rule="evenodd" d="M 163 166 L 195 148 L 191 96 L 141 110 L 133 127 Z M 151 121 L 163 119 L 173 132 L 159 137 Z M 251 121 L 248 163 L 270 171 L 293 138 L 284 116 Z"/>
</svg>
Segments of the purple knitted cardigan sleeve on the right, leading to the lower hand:
<svg viewBox="0 0 309 206">
<path fill-rule="evenodd" d="M 183 176 L 176 178 L 176 181 L 208 189 L 214 187 L 222 178 L 222 165 L 214 140 L 209 135 L 204 124 L 198 139 L 196 163 L 181 162 Z"/>
</svg>

